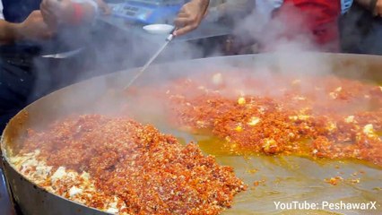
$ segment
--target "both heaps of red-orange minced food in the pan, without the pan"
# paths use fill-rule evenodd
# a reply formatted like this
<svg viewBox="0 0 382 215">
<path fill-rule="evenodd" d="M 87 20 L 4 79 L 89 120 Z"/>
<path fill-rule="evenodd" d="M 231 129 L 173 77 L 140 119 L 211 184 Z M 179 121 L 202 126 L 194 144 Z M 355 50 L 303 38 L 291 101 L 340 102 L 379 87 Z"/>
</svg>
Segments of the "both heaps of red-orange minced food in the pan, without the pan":
<svg viewBox="0 0 382 215">
<path fill-rule="evenodd" d="M 166 104 L 169 123 L 217 137 L 207 148 L 382 166 L 382 89 L 376 85 L 333 76 L 214 73 L 141 91 Z M 232 168 L 205 157 L 196 144 L 182 146 L 123 117 L 66 117 L 48 129 L 29 130 L 22 146 L 11 162 L 24 176 L 112 213 L 219 214 L 246 188 Z"/>
</svg>

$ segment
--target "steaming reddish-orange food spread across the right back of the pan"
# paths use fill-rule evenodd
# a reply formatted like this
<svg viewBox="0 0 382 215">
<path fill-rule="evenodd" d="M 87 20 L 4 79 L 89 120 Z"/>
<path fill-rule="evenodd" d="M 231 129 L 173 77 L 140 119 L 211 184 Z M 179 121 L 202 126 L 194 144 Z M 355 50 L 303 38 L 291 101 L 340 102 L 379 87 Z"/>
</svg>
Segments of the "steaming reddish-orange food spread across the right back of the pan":
<svg viewBox="0 0 382 215">
<path fill-rule="evenodd" d="M 232 154 L 360 159 L 382 166 L 381 86 L 334 76 L 215 73 L 172 82 L 162 91 L 173 122 L 212 133 L 221 139 L 213 147 Z"/>
</svg>

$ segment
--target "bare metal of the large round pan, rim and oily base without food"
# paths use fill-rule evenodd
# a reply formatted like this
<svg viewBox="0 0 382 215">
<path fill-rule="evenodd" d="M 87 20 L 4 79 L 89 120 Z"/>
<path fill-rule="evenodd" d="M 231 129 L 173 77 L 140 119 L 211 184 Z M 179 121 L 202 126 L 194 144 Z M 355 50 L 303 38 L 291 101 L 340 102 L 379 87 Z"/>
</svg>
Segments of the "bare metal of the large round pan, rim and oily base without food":
<svg viewBox="0 0 382 215">
<path fill-rule="evenodd" d="M 290 68 L 287 68 L 291 66 Z M 358 79 L 365 82 L 382 82 L 382 57 L 304 53 L 295 55 L 251 55 L 224 56 L 179 62 L 176 64 L 154 65 L 139 81 L 138 87 L 145 84 L 156 84 L 178 77 L 187 77 L 190 73 L 214 73 L 217 69 L 232 70 L 235 68 L 268 68 L 274 72 L 283 69 L 301 70 L 310 73 L 312 70 L 325 70 L 333 75 Z M 229 69 L 227 69 L 229 68 Z M 102 211 L 85 207 L 79 203 L 65 200 L 48 193 L 39 186 L 25 179 L 9 163 L 11 150 L 17 148 L 27 128 L 38 128 L 48 125 L 60 116 L 74 113 L 112 113 L 126 102 L 122 89 L 136 71 L 124 71 L 97 77 L 80 82 L 65 89 L 58 90 L 25 107 L 6 126 L 2 140 L 1 152 L 3 168 L 12 198 L 23 214 L 105 214 Z M 239 73 L 238 73 L 239 75 Z M 138 88 L 139 89 L 139 88 Z M 115 90 L 114 96 L 102 97 Z M 119 92 L 121 94 L 119 95 Z M 100 99 L 102 98 L 102 99 Z M 123 100 L 123 101 L 122 101 Z M 155 107 L 155 101 L 152 101 Z M 193 136 L 177 128 L 163 124 L 161 113 L 147 111 L 139 107 L 136 119 L 142 123 L 156 125 L 163 133 L 173 133 L 179 139 L 204 141 L 203 136 Z M 211 151 L 206 151 L 211 152 Z M 382 151 L 381 151 L 382 153 Z M 244 158 L 240 156 L 217 156 L 222 165 L 235 168 L 237 176 L 249 185 L 246 192 L 239 193 L 230 210 L 223 214 L 307 214 L 308 211 L 276 210 L 274 202 L 377 202 L 377 210 L 334 210 L 346 214 L 382 214 L 382 169 L 353 161 L 313 161 L 299 157 L 266 157 Z M 340 168 L 339 168 L 340 167 Z M 254 173 L 254 169 L 258 171 Z M 342 183 L 328 185 L 324 179 L 338 176 L 351 177 L 354 172 L 363 171 L 360 184 Z M 265 179 L 265 185 L 253 186 L 255 181 Z M 326 214 L 328 211 L 310 211 L 311 214 Z"/>
</svg>

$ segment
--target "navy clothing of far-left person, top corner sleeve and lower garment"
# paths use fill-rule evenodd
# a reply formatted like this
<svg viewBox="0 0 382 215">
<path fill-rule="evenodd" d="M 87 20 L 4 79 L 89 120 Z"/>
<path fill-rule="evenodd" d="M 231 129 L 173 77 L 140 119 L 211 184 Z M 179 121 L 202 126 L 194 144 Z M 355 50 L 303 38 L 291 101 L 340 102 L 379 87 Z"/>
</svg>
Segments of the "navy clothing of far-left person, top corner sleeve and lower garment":
<svg viewBox="0 0 382 215">
<path fill-rule="evenodd" d="M 2 0 L 4 19 L 23 22 L 41 0 Z M 39 48 L 33 45 L 0 46 L 0 133 L 9 119 L 28 105 L 36 77 L 33 58 Z"/>
</svg>

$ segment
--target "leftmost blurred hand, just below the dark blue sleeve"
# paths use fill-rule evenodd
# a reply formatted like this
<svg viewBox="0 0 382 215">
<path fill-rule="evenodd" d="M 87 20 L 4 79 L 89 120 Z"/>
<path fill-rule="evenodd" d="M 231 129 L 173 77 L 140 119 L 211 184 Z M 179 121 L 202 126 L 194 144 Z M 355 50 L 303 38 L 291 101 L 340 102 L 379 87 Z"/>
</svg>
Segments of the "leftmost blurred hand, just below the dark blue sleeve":
<svg viewBox="0 0 382 215">
<path fill-rule="evenodd" d="M 40 40 L 49 39 L 53 31 L 44 22 L 40 11 L 33 11 L 24 22 L 18 24 L 18 39 Z"/>
</svg>

